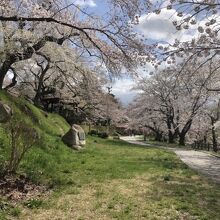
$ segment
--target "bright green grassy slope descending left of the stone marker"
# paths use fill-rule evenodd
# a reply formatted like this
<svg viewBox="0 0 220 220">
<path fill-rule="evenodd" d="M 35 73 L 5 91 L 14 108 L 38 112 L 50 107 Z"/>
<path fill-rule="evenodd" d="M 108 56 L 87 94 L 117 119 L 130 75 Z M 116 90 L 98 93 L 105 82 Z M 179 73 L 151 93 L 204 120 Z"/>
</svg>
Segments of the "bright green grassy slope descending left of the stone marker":
<svg viewBox="0 0 220 220">
<path fill-rule="evenodd" d="M 0 100 L 12 107 L 14 118 L 25 121 L 40 134 L 39 145 L 32 147 L 25 156 L 19 173 L 26 174 L 34 182 L 47 184 L 59 182 L 59 177 L 54 177 L 51 173 L 56 172 L 61 161 L 71 153 L 60 138 L 69 128 L 67 122 L 57 114 L 45 114 L 26 100 L 12 97 L 4 92 L 0 93 Z M 9 156 L 10 148 L 6 132 L 8 131 L 5 131 L 0 124 L 0 164 Z"/>
</svg>

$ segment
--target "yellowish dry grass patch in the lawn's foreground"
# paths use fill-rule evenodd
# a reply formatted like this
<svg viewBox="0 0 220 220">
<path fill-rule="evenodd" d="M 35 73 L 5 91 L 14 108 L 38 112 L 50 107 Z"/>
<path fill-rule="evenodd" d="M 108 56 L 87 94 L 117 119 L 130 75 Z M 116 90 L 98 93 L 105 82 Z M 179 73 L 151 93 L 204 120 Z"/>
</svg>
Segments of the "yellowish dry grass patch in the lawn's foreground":
<svg viewBox="0 0 220 220">
<path fill-rule="evenodd" d="M 175 198 L 163 188 L 155 191 L 149 175 L 92 183 L 75 193 L 63 192 L 49 209 L 25 210 L 23 220 L 198 219 L 177 210 Z M 170 195 L 169 195 L 170 193 Z M 204 205 L 204 204 L 203 204 Z"/>
</svg>

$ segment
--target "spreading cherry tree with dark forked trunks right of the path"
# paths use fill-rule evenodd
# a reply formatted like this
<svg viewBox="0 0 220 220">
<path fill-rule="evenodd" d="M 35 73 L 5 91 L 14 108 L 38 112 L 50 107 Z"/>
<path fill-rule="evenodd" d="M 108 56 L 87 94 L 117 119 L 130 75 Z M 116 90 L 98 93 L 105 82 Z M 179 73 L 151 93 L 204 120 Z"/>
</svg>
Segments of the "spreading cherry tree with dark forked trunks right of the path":
<svg viewBox="0 0 220 220">
<path fill-rule="evenodd" d="M 209 86 L 212 69 L 207 71 L 207 68 L 203 68 L 198 74 L 193 64 L 194 61 L 188 63 L 181 74 L 179 69 L 174 67 L 162 70 L 150 78 L 141 80 L 137 86 L 144 94 L 141 96 L 147 97 L 145 102 L 140 103 L 143 105 L 142 108 L 146 108 L 145 103 L 151 105 L 148 110 L 154 111 L 158 121 L 161 121 L 163 115 L 167 126 L 165 133 L 170 143 L 179 138 L 179 144 L 185 145 L 185 137 L 193 119 L 207 102 L 210 94 L 206 87 Z M 139 111 L 143 112 L 141 109 Z M 146 111 L 146 114 L 149 114 L 149 111 Z"/>
</svg>

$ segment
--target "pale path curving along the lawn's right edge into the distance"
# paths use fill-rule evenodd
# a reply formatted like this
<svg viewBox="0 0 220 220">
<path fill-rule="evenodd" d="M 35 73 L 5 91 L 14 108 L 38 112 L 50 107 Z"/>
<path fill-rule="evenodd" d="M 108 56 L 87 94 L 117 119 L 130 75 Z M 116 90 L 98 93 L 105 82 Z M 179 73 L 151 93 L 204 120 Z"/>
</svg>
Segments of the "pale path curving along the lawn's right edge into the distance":
<svg viewBox="0 0 220 220">
<path fill-rule="evenodd" d="M 131 144 L 149 146 L 149 147 L 159 147 L 162 149 L 167 149 L 175 152 L 177 156 L 192 169 L 204 174 L 208 178 L 220 183 L 220 158 L 212 156 L 205 152 L 188 150 L 188 149 L 178 149 L 170 148 L 159 145 L 152 145 L 144 143 L 140 140 L 140 137 L 121 137 L 122 140 L 127 141 Z"/>
</svg>

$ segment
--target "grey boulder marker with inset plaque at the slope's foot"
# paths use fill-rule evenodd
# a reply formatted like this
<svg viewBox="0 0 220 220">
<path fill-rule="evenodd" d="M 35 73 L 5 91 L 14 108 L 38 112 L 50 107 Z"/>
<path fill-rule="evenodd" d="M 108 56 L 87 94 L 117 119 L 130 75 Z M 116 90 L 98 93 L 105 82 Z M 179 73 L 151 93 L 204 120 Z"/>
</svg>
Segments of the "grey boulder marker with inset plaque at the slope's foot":
<svg viewBox="0 0 220 220">
<path fill-rule="evenodd" d="M 70 130 L 62 137 L 62 141 L 68 147 L 74 150 L 80 150 L 86 144 L 85 132 L 79 126 L 74 124 Z"/>
</svg>

